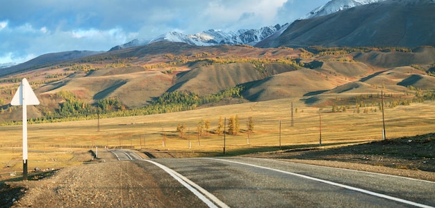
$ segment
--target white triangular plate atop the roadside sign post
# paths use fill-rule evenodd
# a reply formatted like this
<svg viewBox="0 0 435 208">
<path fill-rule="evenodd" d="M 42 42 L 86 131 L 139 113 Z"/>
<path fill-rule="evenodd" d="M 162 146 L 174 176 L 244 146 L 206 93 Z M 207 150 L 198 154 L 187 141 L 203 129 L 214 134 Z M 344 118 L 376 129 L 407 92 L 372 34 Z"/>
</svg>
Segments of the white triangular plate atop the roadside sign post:
<svg viewBox="0 0 435 208">
<path fill-rule="evenodd" d="M 38 97 L 36 97 L 35 93 L 33 93 L 33 90 L 28 84 L 28 81 L 26 78 L 24 78 L 19 85 L 19 88 L 17 90 L 17 93 L 15 93 L 12 101 L 10 102 L 13 106 L 22 106 L 23 100 L 25 99 L 24 103 L 26 105 L 39 105 L 40 101 L 38 100 Z"/>
</svg>

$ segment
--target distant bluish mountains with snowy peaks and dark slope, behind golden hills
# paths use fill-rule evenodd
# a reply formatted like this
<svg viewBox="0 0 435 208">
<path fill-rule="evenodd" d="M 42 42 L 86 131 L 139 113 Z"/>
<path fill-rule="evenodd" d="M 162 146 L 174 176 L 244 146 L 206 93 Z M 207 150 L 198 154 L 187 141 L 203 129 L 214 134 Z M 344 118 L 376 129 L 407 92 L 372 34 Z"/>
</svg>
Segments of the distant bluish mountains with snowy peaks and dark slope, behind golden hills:
<svg viewBox="0 0 435 208">
<path fill-rule="evenodd" d="M 292 24 L 224 32 L 210 29 L 184 35 L 168 32 L 155 38 L 135 39 L 109 51 L 153 42 L 184 42 L 189 45 L 253 45 L 255 47 L 400 46 L 435 45 L 435 0 L 332 0 Z M 1 74 L 13 74 L 34 65 L 98 54 L 101 51 L 66 51 L 45 54 L 27 63 L 5 65 Z M 77 56 L 65 56 L 76 54 Z M 53 56 L 52 58 L 47 58 Z"/>
</svg>

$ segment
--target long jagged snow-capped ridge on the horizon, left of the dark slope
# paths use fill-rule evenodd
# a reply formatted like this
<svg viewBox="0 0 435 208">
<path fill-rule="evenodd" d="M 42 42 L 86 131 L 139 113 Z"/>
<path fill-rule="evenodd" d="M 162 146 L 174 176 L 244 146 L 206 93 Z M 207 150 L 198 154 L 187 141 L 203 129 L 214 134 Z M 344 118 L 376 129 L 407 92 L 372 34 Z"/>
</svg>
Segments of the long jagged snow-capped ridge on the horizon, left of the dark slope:
<svg viewBox="0 0 435 208">
<path fill-rule="evenodd" d="M 211 45 L 255 45 L 257 42 L 276 33 L 286 25 L 279 24 L 275 26 L 265 26 L 261 29 L 240 29 L 238 31 L 224 32 L 221 30 L 211 29 L 194 35 L 185 35 L 178 32 L 169 32 L 163 35 L 158 35 L 151 40 L 135 39 L 127 42 L 124 45 L 117 45 L 110 51 L 147 45 L 151 42 L 167 41 L 167 42 L 184 42 L 189 45 L 211 46 Z"/>
</svg>

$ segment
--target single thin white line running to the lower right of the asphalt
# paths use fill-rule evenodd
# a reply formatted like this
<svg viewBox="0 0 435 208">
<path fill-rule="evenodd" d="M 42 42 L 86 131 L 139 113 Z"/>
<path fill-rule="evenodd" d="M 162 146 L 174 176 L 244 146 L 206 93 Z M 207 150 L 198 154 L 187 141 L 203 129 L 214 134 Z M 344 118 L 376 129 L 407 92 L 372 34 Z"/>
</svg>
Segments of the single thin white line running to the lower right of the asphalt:
<svg viewBox="0 0 435 208">
<path fill-rule="evenodd" d="M 324 180 L 324 179 L 318 179 L 318 178 L 310 177 L 310 176 L 307 176 L 307 175 L 301 175 L 301 174 L 298 174 L 298 173 L 291 173 L 291 172 L 287 172 L 287 171 L 284 171 L 284 170 L 278 170 L 278 169 L 268 168 L 268 167 L 263 167 L 263 166 L 256 166 L 256 165 L 252 165 L 252 164 L 249 164 L 249 163 L 242 163 L 242 162 L 238 162 L 238 161 L 229 161 L 229 160 L 224 160 L 224 159 L 216 159 L 216 158 L 204 158 L 204 159 L 226 161 L 226 162 L 229 162 L 229 163 L 238 163 L 238 164 L 241 164 L 241 165 L 252 166 L 252 167 L 255 167 L 255 168 L 263 168 L 263 169 L 266 169 L 266 170 L 273 170 L 273 171 L 277 171 L 279 173 L 285 173 L 285 174 L 288 174 L 288 175 L 295 175 L 295 176 L 298 176 L 298 177 L 303 177 L 303 178 L 306 178 L 306 179 L 311 179 L 313 181 L 322 182 L 322 183 L 330 184 L 330 185 L 333 185 L 333 186 L 338 186 L 338 187 L 341 187 L 341 188 L 344 188 L 344 189 L 350 189 L 352 191 L 359 191 L 361 193 L 366 193 L 366 194 L 369 194 L 369 195 L 374 195 L 374 196 L 377 196 L 379 198 L 386 198 L 388 200 L 393 200 L 393 201 L 396 201 L 396 202 L 402 202 L 402 203 L 407 204 L 407 205 L 413 205 L 413 206 L 416 206 L 416 207 L 424 207 L 424 208 L 434 208 L 434 207 L 431 207 L 431 206 L 428 206 L 428 205 L 419 204 L 417 202 L 411 202 L 409 200 L 404 200 L 404 199 L 401 199 L 401 198 L 395 198 L 395 197 L 390 196 L 390 195 L 376 193 L 376 192 L 368 191 L 368 190 L 365 190 L 365 189 L 359 189 L 359 188 L 356 188 L 356 187 L 353 187 L 353 186 L 347 186 L 345 184 L 338 184 L 336 182 L 330 182 L 330 181 L 327 181 L 327 180 Z"/>
</svg>

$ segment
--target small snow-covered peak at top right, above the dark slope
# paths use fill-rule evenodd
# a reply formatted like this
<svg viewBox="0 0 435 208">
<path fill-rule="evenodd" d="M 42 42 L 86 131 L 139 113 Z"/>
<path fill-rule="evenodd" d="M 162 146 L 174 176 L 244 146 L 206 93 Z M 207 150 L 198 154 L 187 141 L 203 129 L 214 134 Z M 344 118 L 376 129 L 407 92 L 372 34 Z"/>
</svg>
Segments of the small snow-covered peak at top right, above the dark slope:
<svg viewBox="0 0 435 208">
<path fill-rule="evenodd" d="M 379 1 L 385 1 L 385 0 L 332 0 L 323 6 L 315 8 L 310 13 L 306 14 L 304 17 L 300 17 L 299 19 L 311 19 L 313 17 L 321 17 L 332 13 L 336 13 L 340 10 L 345 10 L 348 8 L 361 6 L 369 3 L 376 3 Z"/>
</svg>

